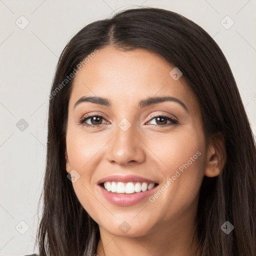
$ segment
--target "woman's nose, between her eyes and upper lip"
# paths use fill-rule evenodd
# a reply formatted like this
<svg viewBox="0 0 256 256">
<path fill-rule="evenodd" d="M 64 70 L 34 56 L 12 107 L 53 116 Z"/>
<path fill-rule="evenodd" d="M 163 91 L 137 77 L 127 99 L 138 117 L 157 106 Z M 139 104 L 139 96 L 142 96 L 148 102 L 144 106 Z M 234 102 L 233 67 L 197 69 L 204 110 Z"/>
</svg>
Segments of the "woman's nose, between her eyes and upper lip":
<svg viewBox="0 0 256 256">
<path fill-rule="evenodd" d="M 107 159 L 125 165 L 130 162 L 141 163 L 145 160 L 145 145 L 141 134 L 131 125 L 126 131 L 118 126 L 115 135 L 109 141 L 107 147 Z"/>
</svg>

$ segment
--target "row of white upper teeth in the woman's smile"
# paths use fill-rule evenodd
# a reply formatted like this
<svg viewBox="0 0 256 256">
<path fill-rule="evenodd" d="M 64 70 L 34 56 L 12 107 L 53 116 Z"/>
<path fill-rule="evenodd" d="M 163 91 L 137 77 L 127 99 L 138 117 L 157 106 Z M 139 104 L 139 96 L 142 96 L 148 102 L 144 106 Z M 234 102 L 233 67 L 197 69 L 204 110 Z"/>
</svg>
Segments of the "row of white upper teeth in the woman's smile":
<svg viewBox="0 0 256 256">
<path fill-rule="evenodd" d="M 155 183 L 149 183 L 147 184 L 146 182 L 104 182 L 104 187 L 107 191 L 111 191 L 113 193 L 127 193 L 131 194 L 134 192 L 144 192 L 147 189 L 153 188 Z"/>
</svg>

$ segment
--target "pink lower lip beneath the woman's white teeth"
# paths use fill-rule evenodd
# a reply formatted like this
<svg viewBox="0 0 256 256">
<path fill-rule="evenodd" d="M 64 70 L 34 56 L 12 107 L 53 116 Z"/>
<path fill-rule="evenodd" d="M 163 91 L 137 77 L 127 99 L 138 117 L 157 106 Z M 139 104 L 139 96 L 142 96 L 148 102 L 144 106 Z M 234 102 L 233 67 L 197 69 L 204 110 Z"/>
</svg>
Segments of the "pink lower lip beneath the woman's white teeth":
<svg viewBox="0 0 256 256">
<path fill-rule="evenodd" d="M 132 194 L 125 194 L 125 193 L 115 194 L 115 193 L 112 193 L 111 191 L 107 191 L 100 185 L 98 186 L 101 192 L 103 193 L 103 195 L 105 196 L 105 198 L 109 202 L 119 206 L 126 206 L 126 205 L 132 205 L 132 204 L 138 203 L 143 199 L 145 199 L 146 197 L 149 197 L 150 194 L 154 192 L 155 188 L 158 185 L 144 192 L 135 192 Z"/>
</svg>

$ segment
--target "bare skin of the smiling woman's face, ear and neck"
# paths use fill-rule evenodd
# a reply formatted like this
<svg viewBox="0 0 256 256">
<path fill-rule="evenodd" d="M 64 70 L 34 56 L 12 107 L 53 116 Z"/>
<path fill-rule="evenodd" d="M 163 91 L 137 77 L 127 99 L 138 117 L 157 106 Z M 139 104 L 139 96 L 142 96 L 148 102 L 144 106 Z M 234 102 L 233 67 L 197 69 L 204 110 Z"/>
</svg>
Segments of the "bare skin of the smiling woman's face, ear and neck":
<svg viewBox="0 0 256 256">
<path fill-rule="evenodd" d="M 220 173 L 225 152 L 220 139 L 206 144 L 198 100 L 182 76 L 175 80 L 169 75 L 173 68 L 147 50 L 108 46 L 75 75 L 68 104 L 66 171 L 80 175 L 72 184 L 99 225 L 99 256 L 200 255 L 199 250 L 194 254 L 198 192 L 204 175 Z M 80 102 L 74 107 L 82 96 L 104 97 L 111 105 Z M 185 107 L 177 101 L 138 106 L 142 99 L 160 96 L 174 97 Z M 85 114 L 102 118 L 88 118 L 85 123 L 94 127 L 87 127 L 79 123 Z M 176 123 L 166 117 L 157 121 L 162 115 Z M 118 126 L 123 118 L 125 125 L 131 124 L 126 131 Z M 188 161 L 191 164 L 166 188 L 168 178 Z M 115 205 L 97 185 L 112 174 L 142 176 L 166 189 L 151 201 Z M 126 233 L 118 228 L 123 221 L 130 226 Z"/>
</svg>

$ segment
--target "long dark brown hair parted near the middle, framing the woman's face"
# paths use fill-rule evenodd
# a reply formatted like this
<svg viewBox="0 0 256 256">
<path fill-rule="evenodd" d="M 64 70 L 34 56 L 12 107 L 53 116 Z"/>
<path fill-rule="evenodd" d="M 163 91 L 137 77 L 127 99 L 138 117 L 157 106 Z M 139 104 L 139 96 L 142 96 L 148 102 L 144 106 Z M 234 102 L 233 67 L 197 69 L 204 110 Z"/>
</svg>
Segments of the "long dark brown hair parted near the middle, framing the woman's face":
<svg viewBox="0 0 256 256">
<path fill-rule="evenodd" d="M 255 142 L 228 62 L 199 25 L 151 7 L 128 9 L 86 25 L 59 57 L 49 97 L 43 209 L 36 235 L 40 255 L 96 253 L 98 225 L 81 206 L 66 175 L 67 106 L 73 79 L 63 81 L 86 56 L 108 45 L 150 50 L 182 71 L 198 97 L 205 136 L 221 133 L 226 149 L 221 174 L 205 176 L 200 188 L 201 255 L 256 255 Z M 225 221 L 234 226 L 229 234 L 220 228 Z"/>
</svg>

